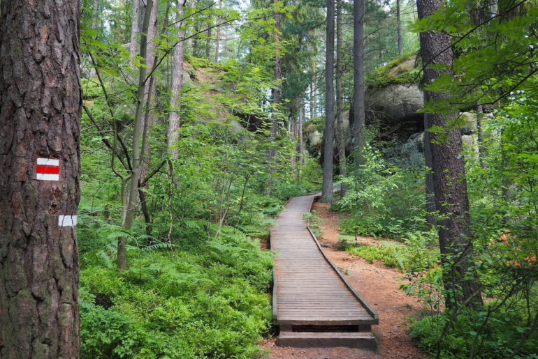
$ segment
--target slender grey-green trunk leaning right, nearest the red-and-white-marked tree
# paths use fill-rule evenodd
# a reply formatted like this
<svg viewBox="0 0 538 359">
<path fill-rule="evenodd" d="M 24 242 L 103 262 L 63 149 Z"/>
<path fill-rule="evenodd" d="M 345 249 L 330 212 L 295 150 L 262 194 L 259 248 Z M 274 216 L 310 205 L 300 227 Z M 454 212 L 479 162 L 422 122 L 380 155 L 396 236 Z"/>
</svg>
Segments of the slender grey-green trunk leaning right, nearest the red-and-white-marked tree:
<svg viewBox="0 0 538 359">
<path fill-rule="evenodd" d="M 145 65 L 147 57 L 147 29 L 150 26 L 150 16 L 153 8 L 153 0 L 147 0 L 147 10 L 144 14 L 144 21 L 142 26 L 142 33 L 140 34 L 140 64 Z M 136 114 L 134 119 L 134 132 L 133 132 L 133 160 L 131 173 L 131 184 L 129 186 L 129 200 L 127 201 L 127 209 L 124 217 L 122 228 L 130 230 L 133 226 L 134 214 L 136 209 L 136 199 L 138 194 L 138 178 L 140 178 L 140 160 L 142 154 L 142 133 L 143 133 L 143 107 L 144 107 L 144 95 L 145 95 L 145 78 L 147 68 L 146 66 L 140 66 L 138 70 L 138 91 L 136 93 Z M 118 238 L 117 243 L 117 268 L 119 270 L 127 269 L 127 251 L 126 251 L 126 238 Z"/>
</svg>

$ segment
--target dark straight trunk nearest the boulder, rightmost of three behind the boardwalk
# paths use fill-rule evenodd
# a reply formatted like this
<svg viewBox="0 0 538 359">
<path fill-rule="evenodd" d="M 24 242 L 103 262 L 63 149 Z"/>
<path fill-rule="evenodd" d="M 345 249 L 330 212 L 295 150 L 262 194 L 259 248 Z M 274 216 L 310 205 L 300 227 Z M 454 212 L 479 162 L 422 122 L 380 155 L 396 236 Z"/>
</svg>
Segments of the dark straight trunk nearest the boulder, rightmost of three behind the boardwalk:
<svg viewBox="0 0 538 359">
<path fill-rule="evenodd" d="M 355 165 L 362 165 L 364 147 L 364 0 L 353 6 L 353 151 Z"/>
</svg>

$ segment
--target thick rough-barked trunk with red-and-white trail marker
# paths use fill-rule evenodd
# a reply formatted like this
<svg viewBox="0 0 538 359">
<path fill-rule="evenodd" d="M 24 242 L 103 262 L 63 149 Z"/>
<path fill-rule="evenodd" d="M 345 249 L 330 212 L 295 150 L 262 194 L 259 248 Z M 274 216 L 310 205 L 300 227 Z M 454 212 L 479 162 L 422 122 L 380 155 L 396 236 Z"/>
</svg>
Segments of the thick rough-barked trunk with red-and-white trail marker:
<svg viewBox="0 0 538 359">
<path fill-rule="evenodd" d="M 80 2 L 0 14 L 0 358 L 79 358 Z"/>
</svg>

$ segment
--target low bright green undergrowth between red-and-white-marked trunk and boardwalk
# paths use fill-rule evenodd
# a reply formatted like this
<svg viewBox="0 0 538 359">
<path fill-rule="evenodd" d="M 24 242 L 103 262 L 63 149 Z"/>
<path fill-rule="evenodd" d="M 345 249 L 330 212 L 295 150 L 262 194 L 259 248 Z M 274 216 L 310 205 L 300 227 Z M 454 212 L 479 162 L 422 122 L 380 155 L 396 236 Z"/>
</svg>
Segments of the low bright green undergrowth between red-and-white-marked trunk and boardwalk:
<svg viewBox="0 0 538 359">
<path fill-rule="evenodd" d="M 82 358 L 252 358 L 270 329 L 272 254 L 225 227 L 203 242 L 131 247 L 131 267 L 80 273 Z"/>
</svg>

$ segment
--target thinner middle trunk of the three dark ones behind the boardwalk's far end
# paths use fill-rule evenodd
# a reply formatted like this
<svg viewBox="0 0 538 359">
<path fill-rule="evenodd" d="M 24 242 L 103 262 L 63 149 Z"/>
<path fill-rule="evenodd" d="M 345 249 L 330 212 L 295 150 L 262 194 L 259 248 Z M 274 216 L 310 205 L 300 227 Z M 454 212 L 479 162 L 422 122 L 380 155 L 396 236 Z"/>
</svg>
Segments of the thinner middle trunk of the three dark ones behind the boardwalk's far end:
<svg viewBox="0 0 538 359">
<path fill-rule="evenodd" d="M 340 176 L 347 176 L 346 143 L 344 129 L 344 105 L 342 100 L 342 0 L 336 0 L 336 123 L 338 145 L 338 168 Z M 346 194 L 344 186 L 340 189 L 342 197 Z"/>
</svg>

